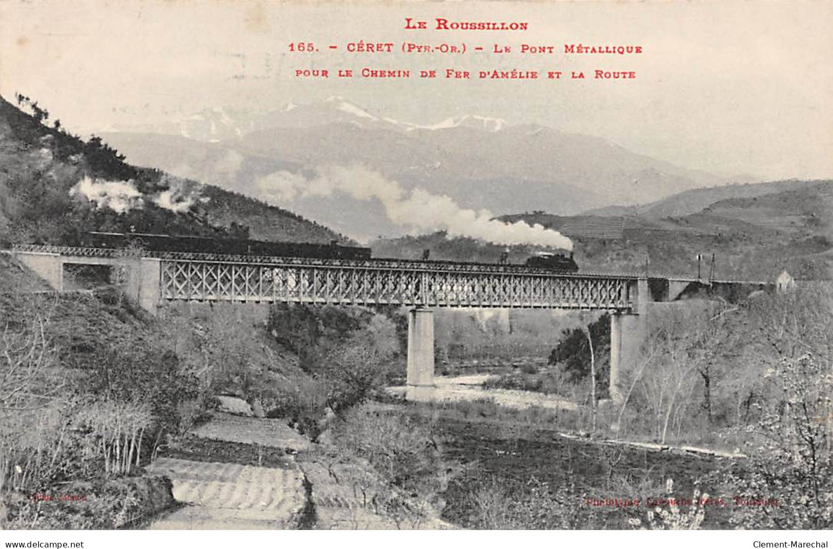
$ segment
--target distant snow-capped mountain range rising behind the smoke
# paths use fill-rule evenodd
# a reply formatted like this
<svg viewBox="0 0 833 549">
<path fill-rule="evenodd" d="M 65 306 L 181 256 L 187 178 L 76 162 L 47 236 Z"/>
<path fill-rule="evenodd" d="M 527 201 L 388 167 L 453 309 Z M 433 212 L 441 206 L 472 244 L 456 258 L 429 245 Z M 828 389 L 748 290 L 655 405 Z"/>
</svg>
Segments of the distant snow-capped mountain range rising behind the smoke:
<svg viewBox="0 0 833 549">
<path fill-rule="evenodd" d="M 255 114 L 212 108 L 141 132 L 103 134 L 128 161 L 287 207 L 357 237 L 407 229 L 382 207 L 340 195 L 287 196 L 287 177 L 361 165 L 496 215 L 574 214 L 654 202 L 723 180 L 627 151 L 600 137 L 478 115 L 401 122 L 342 97 Z"/>
</svg>

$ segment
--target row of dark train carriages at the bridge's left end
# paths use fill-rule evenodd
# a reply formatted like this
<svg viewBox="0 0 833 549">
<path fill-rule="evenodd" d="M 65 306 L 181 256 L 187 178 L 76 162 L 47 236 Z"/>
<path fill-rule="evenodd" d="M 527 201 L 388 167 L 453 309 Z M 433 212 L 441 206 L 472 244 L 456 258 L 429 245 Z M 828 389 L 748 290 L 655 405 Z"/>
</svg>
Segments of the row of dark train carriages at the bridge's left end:
<svg viewBox="0 0 833 549">
<path fill-rule="evenodd" d="M 138 245 L 151 252 L 221 253 L 232 256 L 317 257 L 320 259 L 370 259 L 369 247 L 299 242 L 263 242 L 242 238 L 192 237 L 145 232 L 87 232 L 82 246 L 123 248 Z"/>
</svg>

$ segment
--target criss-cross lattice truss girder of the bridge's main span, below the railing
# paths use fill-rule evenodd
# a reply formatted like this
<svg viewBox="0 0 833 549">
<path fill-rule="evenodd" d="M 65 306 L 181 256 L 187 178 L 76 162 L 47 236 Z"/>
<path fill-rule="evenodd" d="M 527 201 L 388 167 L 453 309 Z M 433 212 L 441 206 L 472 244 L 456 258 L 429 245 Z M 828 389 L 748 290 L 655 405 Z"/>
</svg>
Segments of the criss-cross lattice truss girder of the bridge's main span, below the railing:
<svg viewBox="0 0 833 549">
<path fill-rule="evenodd" d="M 431 272 L 162 260 L 162 298 L 185 301 L 394 304 L 626 310 L 630 280 L 501 272 Z"/>
</svg>

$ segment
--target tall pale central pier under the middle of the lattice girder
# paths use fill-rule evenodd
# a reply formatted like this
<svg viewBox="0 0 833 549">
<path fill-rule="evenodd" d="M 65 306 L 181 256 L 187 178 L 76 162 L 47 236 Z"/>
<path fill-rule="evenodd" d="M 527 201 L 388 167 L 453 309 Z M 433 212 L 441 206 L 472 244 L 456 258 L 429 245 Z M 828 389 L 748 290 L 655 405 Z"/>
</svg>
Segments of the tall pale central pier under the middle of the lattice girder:
<svg viewBox="0 0 833 549">
<path fill-rule="evenodd" d="M 417 307 L 408 313 L 407 400 L 428 400 L 434 388 L 434 313 Z"/>
</svg>

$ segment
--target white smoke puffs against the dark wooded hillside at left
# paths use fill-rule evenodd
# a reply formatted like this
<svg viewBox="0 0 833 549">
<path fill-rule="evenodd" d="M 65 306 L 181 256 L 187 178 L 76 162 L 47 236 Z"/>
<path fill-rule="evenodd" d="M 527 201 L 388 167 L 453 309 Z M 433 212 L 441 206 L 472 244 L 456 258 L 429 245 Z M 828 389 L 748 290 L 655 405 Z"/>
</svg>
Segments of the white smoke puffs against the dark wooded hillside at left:
<svg viewBox="0 0 833 549">
<path fill-rule="evenodd" d="M 189 187 L 182 180 L 171 178 L 166 180 L 168 188 L 155 195 L 142 195 L 132 180 L 106 181 L 82 177 L 71 189 L 71 197 L 84 197 L 95 202 L 98 209 L 109 208 L 113 212 L 124 213 L 132 209 L 142 209 L 145 201 L 153 202 L 171 212 L 187 212 L 197 200 L 199 193 Z"/>
</svg>

